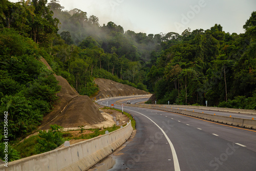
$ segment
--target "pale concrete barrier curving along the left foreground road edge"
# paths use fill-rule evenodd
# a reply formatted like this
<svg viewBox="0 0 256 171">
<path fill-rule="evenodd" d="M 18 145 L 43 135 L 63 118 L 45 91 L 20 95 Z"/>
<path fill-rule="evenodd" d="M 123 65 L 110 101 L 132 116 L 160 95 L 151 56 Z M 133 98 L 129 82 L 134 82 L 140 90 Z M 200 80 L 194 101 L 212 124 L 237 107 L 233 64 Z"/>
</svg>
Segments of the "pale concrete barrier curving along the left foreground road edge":
<svg viewBox="0 0 256 171">
<path fill-rule="evenodd" d="M 88 170 L 120 147 L 133 132 L 131 121 L 122 129 L 67 147 L 0 165 L 1 171 Z"/>
</svg>

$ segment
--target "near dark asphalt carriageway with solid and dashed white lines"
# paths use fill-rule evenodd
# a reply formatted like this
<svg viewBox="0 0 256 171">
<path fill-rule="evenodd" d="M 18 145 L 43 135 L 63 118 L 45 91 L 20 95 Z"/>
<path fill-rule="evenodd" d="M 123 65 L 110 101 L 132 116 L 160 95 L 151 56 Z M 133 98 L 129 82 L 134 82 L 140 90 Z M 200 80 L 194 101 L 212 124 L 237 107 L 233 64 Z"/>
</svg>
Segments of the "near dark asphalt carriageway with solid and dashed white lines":
<svg viewBox="0 0 256 171">
<path fill-rule="evenodd" d="M 116 100 L 98 103 L 106 101 Z M 115 163 L 111 171 L 256 170 L 256 130 L 152 109 L 123 109 L 135 116 L 137 131 L 109 157 Z"/>
</svg>

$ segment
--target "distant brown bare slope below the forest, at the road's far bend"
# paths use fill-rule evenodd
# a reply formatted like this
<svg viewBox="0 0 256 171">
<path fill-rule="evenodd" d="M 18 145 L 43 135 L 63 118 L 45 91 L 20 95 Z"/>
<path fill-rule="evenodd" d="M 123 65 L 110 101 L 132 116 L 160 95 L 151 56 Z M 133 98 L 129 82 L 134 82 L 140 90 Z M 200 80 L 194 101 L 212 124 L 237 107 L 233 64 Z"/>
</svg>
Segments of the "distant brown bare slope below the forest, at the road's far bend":
<svg viewBox="0 0 256 171">
<path fill-rule="evenodd" d="M 136 89 L 134 87 L 121 84 L 109 79 L 96 78 L 94 82 L 99 86 L 99 93 L 96 96 L 97 99 L 117 96 L 132 96 L 132 95 L 144 95 L 148 94 L 143 90 Z"/>
</svg>

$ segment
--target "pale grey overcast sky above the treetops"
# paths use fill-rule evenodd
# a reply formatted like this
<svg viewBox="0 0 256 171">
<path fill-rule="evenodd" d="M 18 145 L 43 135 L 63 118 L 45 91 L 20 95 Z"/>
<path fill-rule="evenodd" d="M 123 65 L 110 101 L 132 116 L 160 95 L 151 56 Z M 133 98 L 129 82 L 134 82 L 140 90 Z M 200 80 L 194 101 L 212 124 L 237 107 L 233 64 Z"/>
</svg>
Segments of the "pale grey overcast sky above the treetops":
<svg viewBox="0 0 256 171">
<path fill-rule="evenodd" d="M 18 2 L 18 0 L 11 0 Z M 50 0 L 48 0 L 50 2 Z M 225 32 L 244 33 L 243 25 L 256 11 L 255 0 L 59 0 L 64 10 L 80 9 L 99 18 L 99 24 L 112 21 L 124 31 L 158 34 L 185 29 L 209 29 L 220 24 Z"/>
</svg>

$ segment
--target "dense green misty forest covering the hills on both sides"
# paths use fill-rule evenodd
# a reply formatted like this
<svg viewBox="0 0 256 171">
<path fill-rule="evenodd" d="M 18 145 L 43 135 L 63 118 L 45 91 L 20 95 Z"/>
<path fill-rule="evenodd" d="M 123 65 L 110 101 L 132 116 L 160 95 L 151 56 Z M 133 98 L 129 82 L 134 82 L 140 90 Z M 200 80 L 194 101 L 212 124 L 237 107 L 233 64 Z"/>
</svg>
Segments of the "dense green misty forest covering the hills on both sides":
<svg viewBox="0 0 256 171">
<path fill-rule="evenodd" d="M 154 35 L 100 26 L 56 0 L 1 2 L 0 110 L 2 120 L 9 112 L 11 140 L 34 130 L 57 100 L 60 87 L 40 57 L 81 95 L 95 95 L 100 77 L 154 93 L 158 103 L 256 109 L 256 12 L 239 35 L 218 24 Z"/>
</svg>

